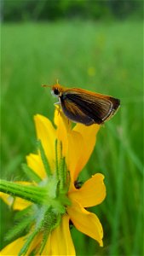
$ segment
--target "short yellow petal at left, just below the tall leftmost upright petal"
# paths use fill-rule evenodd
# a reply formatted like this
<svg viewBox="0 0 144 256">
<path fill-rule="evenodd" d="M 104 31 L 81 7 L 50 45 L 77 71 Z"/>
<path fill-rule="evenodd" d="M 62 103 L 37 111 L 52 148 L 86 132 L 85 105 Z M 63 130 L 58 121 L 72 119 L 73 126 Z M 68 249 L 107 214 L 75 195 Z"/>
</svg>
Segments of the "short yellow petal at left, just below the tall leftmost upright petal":
<svg viewBox="0 0 144 256">
<path fill-rule="evenodd" d="M 43 161 L 39 154 L 29 154 L 26 156 L 27 165 L 37 173 L 42 179 L 46 177 Z"/>
</svg>

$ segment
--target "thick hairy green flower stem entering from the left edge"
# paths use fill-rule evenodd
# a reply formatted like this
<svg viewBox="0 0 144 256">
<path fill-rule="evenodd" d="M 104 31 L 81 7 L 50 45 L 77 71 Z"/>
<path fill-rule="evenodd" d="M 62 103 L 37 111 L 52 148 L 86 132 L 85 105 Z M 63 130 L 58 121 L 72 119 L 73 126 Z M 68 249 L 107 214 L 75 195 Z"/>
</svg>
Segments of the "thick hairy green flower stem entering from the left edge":
<svg viewBox="0 0 144 256">
<path fill-rule="evenodd" d="M 43 203 L 43 199 L 46 195 L 46 189 L 44 188 L 13 183 L 6 180 L 0 180 L 0 191 L 9 195 L 18 196 L 37 204 Z"/>
</svg>

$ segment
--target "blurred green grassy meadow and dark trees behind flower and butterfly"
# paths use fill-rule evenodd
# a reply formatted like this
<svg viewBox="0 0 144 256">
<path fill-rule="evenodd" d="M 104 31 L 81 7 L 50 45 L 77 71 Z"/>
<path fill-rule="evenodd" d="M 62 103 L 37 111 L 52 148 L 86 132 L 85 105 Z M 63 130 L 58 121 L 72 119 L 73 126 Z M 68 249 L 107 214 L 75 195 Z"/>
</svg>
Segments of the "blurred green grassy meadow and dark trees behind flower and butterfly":
<svg viewBox="0 0 144 256">
<path fill-rule="evenodd" d="M 143 11 L 141 1 L 4 1 L 2 13 L 2 168 L 25 179 L 21 163 L 36 149 L 33 115 L 53 120 L 55 99 L 41 84 L 60 84 L 121 99 L 101 126 L 80 180 L 105 175 L 107 198 L 90 209 L 104 247 L 72 228 L 78 255 L 143 255 Z M 14 212 L 1 201 L 3 236 Z M 3 220 L 4 219 L 4 220 Z"/>
</svg>

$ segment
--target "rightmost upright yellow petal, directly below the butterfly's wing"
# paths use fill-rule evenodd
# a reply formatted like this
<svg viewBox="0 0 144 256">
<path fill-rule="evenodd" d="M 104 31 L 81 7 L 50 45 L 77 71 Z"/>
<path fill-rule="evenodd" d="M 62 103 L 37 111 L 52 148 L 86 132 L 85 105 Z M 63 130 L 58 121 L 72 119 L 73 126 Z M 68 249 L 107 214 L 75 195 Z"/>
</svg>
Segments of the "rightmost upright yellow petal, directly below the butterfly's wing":
<svg viewBox="0 0 144 256">
<path fill-rule="evenodd" d="M 75 176 L 78 177 L 79 172 L 84 168 L 87 161 L 89 160 L 90 155 L 92 154 L 92 151 L 95 147 L 96 142 L 96 134 L 100 129 L 100 125 L 82 125 L 77 124 L 73 131 L 77 131 L 81 134 L 83 137 L 83 144 L 81 145 L 81 148 L 83 148 L 83 154 L 81 154 L 80 161 L 78 163 L 78 170 L 76 170 Z M 77 144 L 75 145 L 77 147 Z"/>
</svg>

